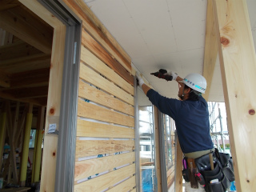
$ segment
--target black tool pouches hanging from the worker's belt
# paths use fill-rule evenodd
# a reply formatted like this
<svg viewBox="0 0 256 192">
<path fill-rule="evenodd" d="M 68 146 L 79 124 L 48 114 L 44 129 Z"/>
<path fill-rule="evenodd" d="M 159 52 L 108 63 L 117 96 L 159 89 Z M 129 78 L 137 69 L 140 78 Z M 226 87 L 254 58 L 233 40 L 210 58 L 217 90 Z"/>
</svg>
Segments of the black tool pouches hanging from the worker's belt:
<svg viewBox="0 0 256 192">
<path fill-rule="evenodd" d="M 194 162 L 206 181 L 206 192 L 224 192 L 229 189 L 230 182 L 234 181 L 234 172 L 230 166 L 231 158 L 229 154 L 218 153 L 217 149 L 213 152 L 213 158 L 214 170 L 210 168 L 209 154 L 194 159 Z M 212 183 L 216 178 L 218 182 Z"/>
</svg>

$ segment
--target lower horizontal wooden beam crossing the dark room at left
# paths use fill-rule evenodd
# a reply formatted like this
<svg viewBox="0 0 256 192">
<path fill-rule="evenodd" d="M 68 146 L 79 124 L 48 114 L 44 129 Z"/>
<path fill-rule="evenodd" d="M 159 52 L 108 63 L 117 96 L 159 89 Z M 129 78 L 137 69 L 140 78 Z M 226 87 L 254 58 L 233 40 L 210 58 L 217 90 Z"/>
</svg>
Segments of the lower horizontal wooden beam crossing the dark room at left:
<svg viewBox="0 0 256 192">
<path fill-rule="evenodd" d="M 0 62 L 0 69 L 8 74 L 47 67 L 50 68 L 50 54 L 30 54 L 19 58 L 9 58 Z"/>
</svg>

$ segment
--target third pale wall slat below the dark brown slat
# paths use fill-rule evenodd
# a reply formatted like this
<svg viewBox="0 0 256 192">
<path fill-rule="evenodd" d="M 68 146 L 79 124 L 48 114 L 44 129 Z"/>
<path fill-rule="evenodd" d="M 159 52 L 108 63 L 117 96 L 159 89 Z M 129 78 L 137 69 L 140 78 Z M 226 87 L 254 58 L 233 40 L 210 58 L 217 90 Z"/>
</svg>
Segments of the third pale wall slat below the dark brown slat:
<svg viewBox="0 0 256 192">
<path fill-rule="evenodd" d="M 114 98 L 110 94 L 106 94 L 102 90 L 96 89 L 94 86 L 88 85 L 86 82 L 79 81 L 79 97 L 86 98 L 90 101 L 97 102 L 102 106 L 110 107 L 111 109 L 121 111 L 125 114 L 134 116 L 134 107 L 122 102 L 118 98 Z"/>
</svg>

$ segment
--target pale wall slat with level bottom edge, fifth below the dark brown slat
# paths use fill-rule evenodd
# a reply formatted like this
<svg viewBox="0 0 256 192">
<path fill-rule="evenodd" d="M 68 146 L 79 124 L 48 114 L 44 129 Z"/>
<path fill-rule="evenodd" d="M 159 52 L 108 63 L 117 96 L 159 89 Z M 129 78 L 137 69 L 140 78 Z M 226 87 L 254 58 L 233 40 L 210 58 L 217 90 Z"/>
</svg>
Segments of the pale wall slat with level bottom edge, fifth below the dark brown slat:
<svg viewBox="0 0 256 192">
<path fill-rule="evenodd" d="M 77 136 L 95 138 L 134 138 L 135 131 L 122 126 L 88 122 L 78 118 Z"/>
</svg>

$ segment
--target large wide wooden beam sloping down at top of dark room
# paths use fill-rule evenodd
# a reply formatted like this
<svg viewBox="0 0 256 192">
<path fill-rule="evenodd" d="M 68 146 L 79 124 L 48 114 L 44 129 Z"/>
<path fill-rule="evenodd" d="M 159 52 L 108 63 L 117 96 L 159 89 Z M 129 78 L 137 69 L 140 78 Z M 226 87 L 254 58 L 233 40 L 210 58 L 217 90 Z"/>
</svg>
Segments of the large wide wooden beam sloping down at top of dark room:
<svg viewBox="0 0 256 192">
<path fill-rule="evenodd" d="M 51 53 L 52 30 L 21 7 L 0 11 L 0 27 L 43 53 Z"/>
</svg>

